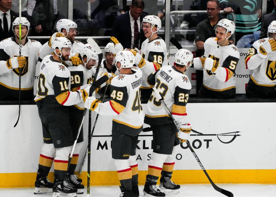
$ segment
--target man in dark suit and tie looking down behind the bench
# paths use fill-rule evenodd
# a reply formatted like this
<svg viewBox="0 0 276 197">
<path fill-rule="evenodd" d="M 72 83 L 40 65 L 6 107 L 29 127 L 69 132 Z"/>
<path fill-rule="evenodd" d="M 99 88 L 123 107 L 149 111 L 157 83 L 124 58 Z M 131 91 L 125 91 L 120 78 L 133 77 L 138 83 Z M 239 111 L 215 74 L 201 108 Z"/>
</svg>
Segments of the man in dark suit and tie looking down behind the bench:
<svg viewBox="0 0 276 197">
<path fill-rule="evenodd" d="M 141 22 L 146 16 L 142 13 L 144 8 L 145 3 L 142 0 L 132 0 L 130 10 L 115 18 L 111 36 L 116 37 L 124 48 L 141 49 L 141 44 L 146 39 L 144 32 L 141 31 Z"/>
</svg>

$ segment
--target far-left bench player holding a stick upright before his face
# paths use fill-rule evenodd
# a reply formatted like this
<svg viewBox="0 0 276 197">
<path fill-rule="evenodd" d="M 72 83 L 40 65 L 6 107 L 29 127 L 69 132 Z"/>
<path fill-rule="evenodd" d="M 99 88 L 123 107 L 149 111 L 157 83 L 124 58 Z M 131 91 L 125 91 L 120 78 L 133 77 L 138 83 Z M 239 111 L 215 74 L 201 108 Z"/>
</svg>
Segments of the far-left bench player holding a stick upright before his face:
<svg viewBox="0 0 276 197">
<path fill-rule="evenodd" d="M 21 69 L 21 98 L 33 99 L 36 64 L 41 44 L 27 38 L 30 23 L 22 17 L 21 57 L 19 57 L 19 17 L 12 22 L 15 37 L 0 42 L 0 100 L 18 100 L 19 69 Z"/>
</svg>

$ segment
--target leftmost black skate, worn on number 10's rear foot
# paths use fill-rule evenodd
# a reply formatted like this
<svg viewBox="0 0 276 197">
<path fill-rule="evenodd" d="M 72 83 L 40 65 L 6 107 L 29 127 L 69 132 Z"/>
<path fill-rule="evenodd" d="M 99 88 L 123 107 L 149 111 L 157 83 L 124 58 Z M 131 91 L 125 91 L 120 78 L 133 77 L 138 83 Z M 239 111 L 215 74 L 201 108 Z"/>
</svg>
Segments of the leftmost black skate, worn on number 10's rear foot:
<svg viewBox="0 0 276 197">
<path fill-rule="evenodd" d="M 49 181 L 47 176 L 37 176 L 35 181 L 34 194 L 44 194 L 52 192 L 54 183 Z"/>
</svg>

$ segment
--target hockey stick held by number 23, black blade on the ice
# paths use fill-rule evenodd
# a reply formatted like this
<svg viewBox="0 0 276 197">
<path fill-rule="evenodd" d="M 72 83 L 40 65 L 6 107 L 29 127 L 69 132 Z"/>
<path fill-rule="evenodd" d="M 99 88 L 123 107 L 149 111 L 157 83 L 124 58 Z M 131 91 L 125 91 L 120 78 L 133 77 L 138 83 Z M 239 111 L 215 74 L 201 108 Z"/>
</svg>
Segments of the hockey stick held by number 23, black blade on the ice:
<svg viewBox="0 0 276 197">
<path fill-rule="evenodd" d="M 171 118 L 171 120 L 173 121 L 173 123 L 175 124 L 175 127 L 176 127 L 178 130 L 180 130 L 178 124 L 177 124 L 176 121 L 175 121 L 175 118 L 171 115 L 170 110 L 168 109 L 168 107 L 167 107 L 167 105 L 165 104 L 163 98 L 161 97 L 161 95 L 160 95 L 159 92 L 157 91 L 156 87 L 154 86 L 152 89 L 153 89 L 154 92 L 155 92 L 156 98 L 159 99 L 159 100 L 161 101 L 161 103 L 163 104 L 164 108 L 166 109 L 166 111 L 167 111 L 168 114 L 170 115 L 170 118 Z M 199 166 L 201 167 L 201 169 L 203 170 L 203 172 L 204 172 L 205 175 L 207 176 L 207 178 L 208 178 L 208 180 L 210 181 L 210 183 L 211 183 L 211 185 L 213 186 L 213 188 L 214 188 L 215 190 L 217 190 L 218 192 L 220 192 L 220 193 L 222 193 L 222 194 L 224 194 L 224 195 L 226 195 L 226 196 L 228 196 L 228 197 L 234 197 L 234 195 L 233 195 L 231 192 L 229 192 L 229 191 L 227 191 L 227 190 L 225 190 L 225 189 L 222 189 L 222 188 L 218 187 L 216 184 L 214 184 L 214 182 L 212 181 L 212 179 L 210 178 L 210 176 L 209 176 L 208 173 L 206 172 L 204 166 L 203 166 L 202 163 L 200 162 L 198 156 L 196 155 L 194 149 L 191 147 L 190 142 L 189 142 L 188 140 L 187 140 L 187 145 L 188 145 L 189 149 L 191 150 L 191 152 L 193 153 L 193 155 L 194 155 L 195 159 L 197 160 Z"/>
</svg>

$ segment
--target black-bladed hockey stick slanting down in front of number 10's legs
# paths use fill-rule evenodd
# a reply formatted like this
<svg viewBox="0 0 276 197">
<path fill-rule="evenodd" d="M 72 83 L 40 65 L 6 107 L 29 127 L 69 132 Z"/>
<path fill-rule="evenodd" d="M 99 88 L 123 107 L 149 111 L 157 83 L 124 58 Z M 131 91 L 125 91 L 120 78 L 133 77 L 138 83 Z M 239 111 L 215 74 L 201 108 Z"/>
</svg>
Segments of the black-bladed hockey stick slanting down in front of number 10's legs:
<svg viewBox="0 0 276 197">
<path fill-rule="evenodd" d="M 93 82 L 92 85 L 90 86 L 90 89 L 89 89 L 89 94 L 90 92 L 94 92 L 95 89 L 97 89 L 99 86 L 101 86 L 101 84 L 103 84 L 104 82 L 106 82 L 108 80 L 108 76 L 102 76 L 100 79 L 98 79 L 97 81 Z M 83 120 L 84 120 L 84 116 L 85 116 L 85 112 L 86 110 L 84 111 L 83 113 L 83 117 L 82 117 L 82 120 L 81 120 L 81 124 L 78 128 L 78 134 L 77 134 L 77 137 L 75 139 L 75 142 L 74 142 L 74 145 L 73 145 L 73 148 L 71 150 L 71 153 L 70 153 L 70 156 L 69 156 L 69 159 L 68 159 L 68 167 L 67 169 L 69 169 L 69 166 L 70 166 L 70 163 L 71 163 L 71 160 L 72 160 L 72 157 L 73 157 L 73 153 L 74 153 L 74 150 L 75 150 L 75 147 L 76 147 L 76 144 L 77 144 L 77 141 L 78 141 L 78 136 L 81 132 L 81 126 L 83 124 Z"/>
</svg>

